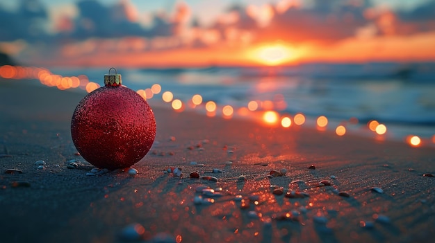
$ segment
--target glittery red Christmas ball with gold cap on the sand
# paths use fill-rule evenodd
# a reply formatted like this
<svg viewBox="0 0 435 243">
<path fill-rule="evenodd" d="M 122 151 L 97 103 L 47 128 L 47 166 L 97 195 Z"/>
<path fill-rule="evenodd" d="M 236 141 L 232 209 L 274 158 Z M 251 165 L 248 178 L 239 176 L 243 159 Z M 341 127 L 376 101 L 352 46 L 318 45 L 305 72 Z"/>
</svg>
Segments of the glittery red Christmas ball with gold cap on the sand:
<svg viewBox="0 0 435 243">
<path fill-rule="evenodd" d="M 113 69 L 113 68 L 112 68 Z M 71 120 L 71 136 L 81 156 L 97 168 L 128 168 L 142 159 L 156 137 L 148 103 L 122 86 L 121 75 L 104 75 L 104 87 L 88 93 Z"/>
</svg>

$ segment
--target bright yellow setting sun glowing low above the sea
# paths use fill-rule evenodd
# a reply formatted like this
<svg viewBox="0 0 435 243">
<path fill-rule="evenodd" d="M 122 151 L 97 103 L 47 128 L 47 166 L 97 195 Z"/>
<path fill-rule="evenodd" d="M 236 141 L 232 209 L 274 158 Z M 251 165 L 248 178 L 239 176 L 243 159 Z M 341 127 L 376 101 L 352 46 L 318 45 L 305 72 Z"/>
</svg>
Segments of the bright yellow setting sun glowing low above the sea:
<svg viewBox="0 0 435 243">
<path fill-rule="evenodd" d="M 258 62 L 269 66 L 277 66 L 296 59 L 295 50 L 284 44 L 259 46 L 254 50 L 252 56 Z"/>
</svg>

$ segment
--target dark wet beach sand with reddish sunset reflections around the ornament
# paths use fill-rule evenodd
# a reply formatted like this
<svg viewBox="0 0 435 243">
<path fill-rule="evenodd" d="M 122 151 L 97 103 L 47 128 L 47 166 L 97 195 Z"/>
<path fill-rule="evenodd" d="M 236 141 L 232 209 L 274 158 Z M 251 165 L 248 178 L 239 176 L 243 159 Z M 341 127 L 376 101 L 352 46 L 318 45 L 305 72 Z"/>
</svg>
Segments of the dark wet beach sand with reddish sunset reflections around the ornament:
<svg viewBox="0 0 435 243">
<path fill-rule="evenodd" d="M 0 242 L 126 242 L 122 229 L 133 223 L 144 226 L 145 242 L 157 242 L 162 233 L 172 242 L 432 242 L 435 237 L 435 178 L 422 176 L 435 174 L 433 148 L 155 106 L 156 142 L 133 166 L 139 174 L 87 176 L 93 167 L 74 155 L 69 133 L 85 93 L 34 82 L 0 80 Z M 67 168 L 72 159 L 79 168 Z M 37 169 L 38 160 L 47 163 L 44 170 Z M 164 173 L 170 166 L 182 168 L 183 178 Z M 224 173 L 209 173 L 213 168 Z M 284 176 L 267 177 L 284 168 Z M 6 174 L 8 169 L 22 174 Z M 195 170 L 219 181 L 188 178 Z M 240 175 L 247 180 L 238 181 Z M 331 186 L 318 186 L 325 179 Z M 14 181 L 30 186 L 14 187 Z M 222 197 L 194 204 L 200 185 L 222 188 Z M 309 197 L 274 195 L 271 186 Z M 243 208 L 237 195 L 245 199 Z M 388 222 L 379 220 L 384 216 Z M 372 228 L 361 222 L 372 222 Z"/>
</svg>

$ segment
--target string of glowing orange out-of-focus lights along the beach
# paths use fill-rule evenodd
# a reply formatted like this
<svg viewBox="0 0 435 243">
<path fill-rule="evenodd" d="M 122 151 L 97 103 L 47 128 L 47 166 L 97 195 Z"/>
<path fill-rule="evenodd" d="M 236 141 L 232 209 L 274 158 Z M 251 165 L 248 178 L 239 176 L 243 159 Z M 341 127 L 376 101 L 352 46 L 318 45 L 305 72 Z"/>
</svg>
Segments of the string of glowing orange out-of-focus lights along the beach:
<svg viewBox="0 0 435 243">
<path fill-rule="evenodd" d="M 91 82 L 86 75 L 63 77 L 51 73 L 48 69 L 33 67 L 33 66 L 0 66 L 0 77 L 4 79 L 37 79 L 48 87 L 57 87 L 60 90 L 65 89 L 83 89 L 88 93 L 98 89 L 100 85 L 97 82 Z M 149 100 L 162 92 L 160 84 L 153 84 L 150 88 L 139 89 L 136 91 L 142 98 Z M 280 115 L 279 112 L 274 111 L 274 104 L 271 100 L 251 100 L 247 103 L 246 107 L 232 107 L 231 105 L 223 105 L 221 108 L 217 106 L 213 100 L 204 101 L 200 94 L 195 94 L 183 102 L 180 99 L 174 98 L 174 93 L 171 91 L 163 91 L 161 98 L 163 102 L 170 104 L 172 109 L 177 112 L 184 111 L 186 107 L 190 109 L 205 109 L 206 116 L 213 117 L 222 115 L 223 118 L 233 118 L 235 112 L 238 116 L 254 118 L 261 120 L 265 125 L 279 126 L 284 128 L 293 126 L 302 126 L 306 122 L 304 114 L 298 113 L 292 117 L 290 115 Z M 219 109 L 220 108 L 220 109 Z M 236 111 L 235 111 L 236 109 Z M 328 125 L 328 118 L 326 116 L 319 116 L 316 119 L 315 125 L 318 131 L 326 131 Z M 350 118 L 348 121 L 350 124 L 358 124 L 357 118 Z M 344 136 L 347 132 L 347 123 L 340 124 L 335 129 L 337 136 Z M 377 120 L 370 120 L 367 124 L 368 130 L 377 135 L 377 140 L 384 140 L 384 134 L 387 132 L 387 127 L 384 124 L 379 123 Z M 411 147 L 420 147 L 421 145 L 435 144 L 435 134 L 432 138 L 422 140 L 419 136 L 408 135 L 404 138 L 404 141 Z"/>
</svg>

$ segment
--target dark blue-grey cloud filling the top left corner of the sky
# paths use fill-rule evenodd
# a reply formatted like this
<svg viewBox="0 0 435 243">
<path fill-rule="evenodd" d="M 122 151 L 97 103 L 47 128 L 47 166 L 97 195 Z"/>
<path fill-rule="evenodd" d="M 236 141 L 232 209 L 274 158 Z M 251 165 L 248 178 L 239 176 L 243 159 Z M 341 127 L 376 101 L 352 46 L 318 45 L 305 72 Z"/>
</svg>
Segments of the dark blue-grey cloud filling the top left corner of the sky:
<svg viewBox="0 0 435 243">
<path fill-rule="evenodd" d="M 14 12 L 0 8 L 0 42 L 47 39 L 43 29 L 46 21 L 47 11 L 38 0 L 22 0 Z"/>
</svg>

